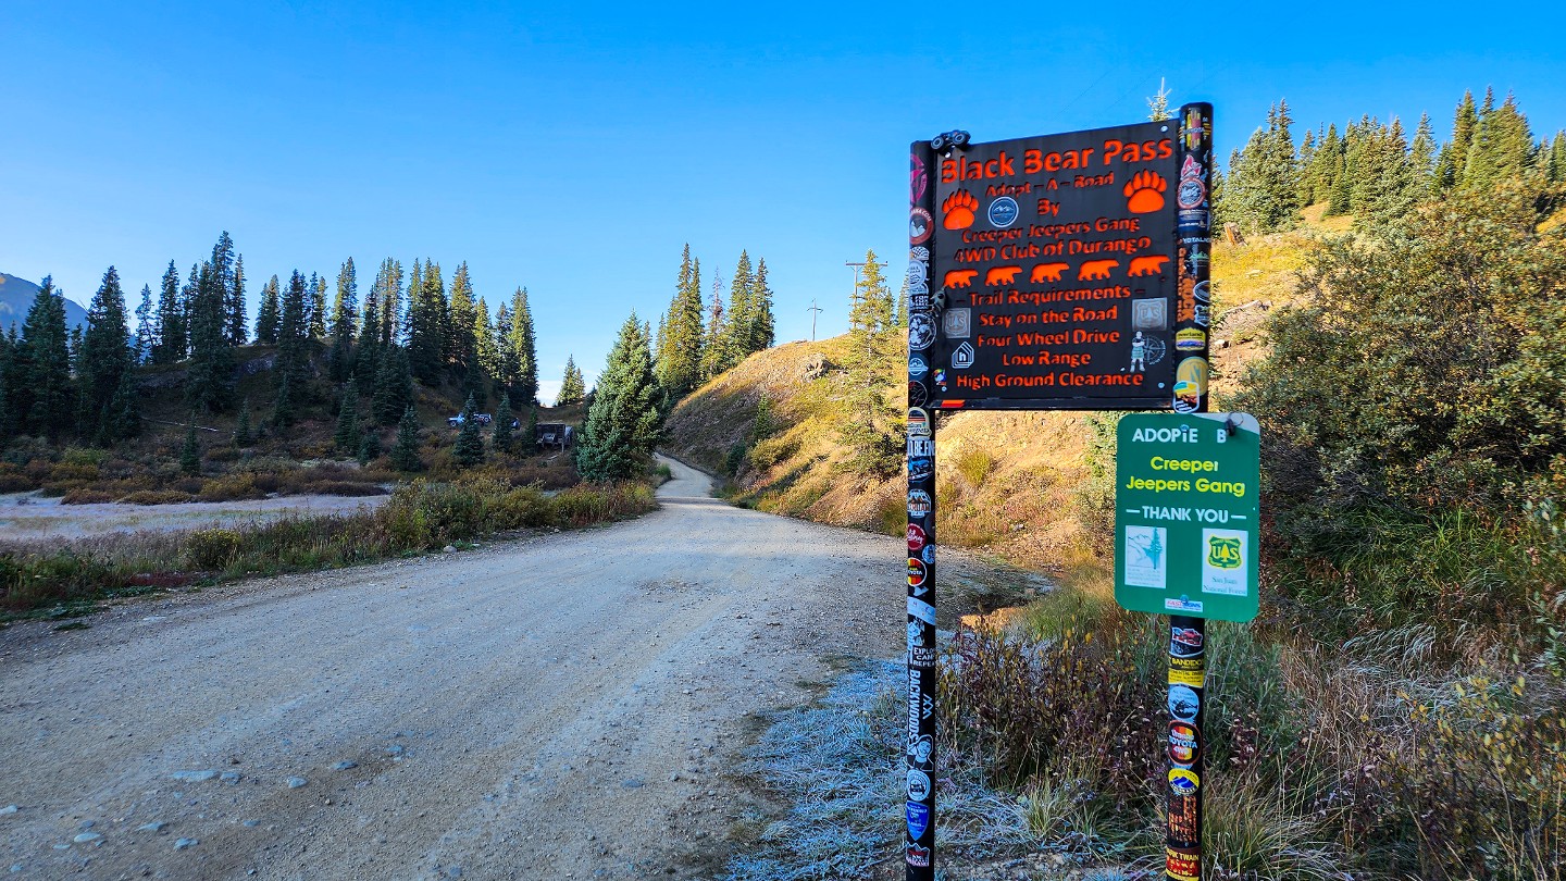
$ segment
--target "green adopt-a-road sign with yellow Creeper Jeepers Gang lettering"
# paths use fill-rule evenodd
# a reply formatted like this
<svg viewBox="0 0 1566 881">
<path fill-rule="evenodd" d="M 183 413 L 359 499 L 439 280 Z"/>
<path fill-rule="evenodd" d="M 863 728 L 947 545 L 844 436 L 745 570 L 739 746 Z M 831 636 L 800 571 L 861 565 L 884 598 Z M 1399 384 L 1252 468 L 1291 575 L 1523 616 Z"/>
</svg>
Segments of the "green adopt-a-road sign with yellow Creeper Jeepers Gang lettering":
<svg viewBox="0 0 1566 881">
<path fill-rule="evenodd" d="M 1129 414 L 1115 453 L 1115 602 L 1256 618 L 1261 426 L 1234 414 Z"/>
</svg>

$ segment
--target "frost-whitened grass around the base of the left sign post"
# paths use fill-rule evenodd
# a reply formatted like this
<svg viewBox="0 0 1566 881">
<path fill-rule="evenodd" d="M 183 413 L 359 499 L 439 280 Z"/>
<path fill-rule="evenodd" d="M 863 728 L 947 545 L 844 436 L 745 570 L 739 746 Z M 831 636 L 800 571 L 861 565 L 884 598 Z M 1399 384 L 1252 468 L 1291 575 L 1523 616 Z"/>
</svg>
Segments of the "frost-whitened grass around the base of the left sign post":
<svg viewBox="0 0 1566 881">
<path fill-rule="evenodd" d="M 749 770 L 791 809 L 730 862 L 728 881 L 866 878 L 900 862 L 905 676 L 900 662 L 871 662 L 816 705 L 778 716 Z M 988 789 L 976 768 L 943 770 L 935 836 L 943 857 L 965 861 L 1038 847 L 1015 796 Z"/>
</svg>

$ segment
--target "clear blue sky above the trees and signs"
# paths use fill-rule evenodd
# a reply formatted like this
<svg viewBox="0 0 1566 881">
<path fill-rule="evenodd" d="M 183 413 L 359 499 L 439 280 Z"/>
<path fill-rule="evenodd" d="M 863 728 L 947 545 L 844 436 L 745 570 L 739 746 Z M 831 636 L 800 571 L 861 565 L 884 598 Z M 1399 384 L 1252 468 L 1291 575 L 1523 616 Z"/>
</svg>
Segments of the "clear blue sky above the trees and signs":
<svg viewBox="0 0 1566 881">
<path fill-rule="evenodd" d="M 1279 97 L 1301 133 L 1430 111 L 1444 138 L 1492 85 L 1566 127 L 1560 8 L 1391 6 L 3 0 L 0 271 L 86 303 L 113 263 L 135 306 L 222 229 L 252 295 L 467 260 L 492 307 L 529 288 L 548 397 L 567 354 L 590 381 L 633 309 L 658 318 L 687 241 L 708 285 L 766 257 L 778 340 L 811 299 L 843 332 L 843 263 L 899 262 L 905 147 L 941 130 L 1129 122 L 1160 77 L 1217 105 L 1225 154 Z"/>
</svg>

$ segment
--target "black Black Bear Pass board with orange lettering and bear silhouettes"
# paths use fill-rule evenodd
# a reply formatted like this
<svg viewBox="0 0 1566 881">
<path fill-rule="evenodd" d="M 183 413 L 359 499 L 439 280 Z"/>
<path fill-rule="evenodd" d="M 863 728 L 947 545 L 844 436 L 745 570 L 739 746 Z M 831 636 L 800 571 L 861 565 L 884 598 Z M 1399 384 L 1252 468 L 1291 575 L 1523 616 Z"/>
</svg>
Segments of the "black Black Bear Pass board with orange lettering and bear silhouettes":
<svg viewBox="0 0 1566 881">
<path fill-rule="evenodd" d="M 1211 125 L 1189 105 L 936 157 L 910 216 L 933 409 L 1204 409 Z"/>
</svg>

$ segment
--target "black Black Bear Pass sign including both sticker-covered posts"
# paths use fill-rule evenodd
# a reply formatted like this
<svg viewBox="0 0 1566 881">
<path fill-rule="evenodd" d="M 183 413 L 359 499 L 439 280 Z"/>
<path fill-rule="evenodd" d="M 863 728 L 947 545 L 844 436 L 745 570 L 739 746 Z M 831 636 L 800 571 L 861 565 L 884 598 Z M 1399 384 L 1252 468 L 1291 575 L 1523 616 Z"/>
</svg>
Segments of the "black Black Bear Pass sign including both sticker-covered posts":
<svg viewBox="0 0 1566 881">
<path fill-rule="evenodd" d="M 1206 412 L 1211 188 L 1209 103 L 1167 121 L 982 144 L 947 132 L 910 147 L 908 881 L 932 881 L 936 857 L 936 417 Z M 1200 619 L 1176 625 L 1201 636 Z M 1201 663 L 1200 652 L 1179 662 L 1192 657 Z M 1193 718 L 1182 724 L 1200 729 Z M 1196 762 L 1200 751 L 1190 768 Z M 1190 803 L 1196 848 L 1198 807 L 1200 796 Z M 1189 881 L 1170 854 L 1170 876 Z"/>
</svg>

